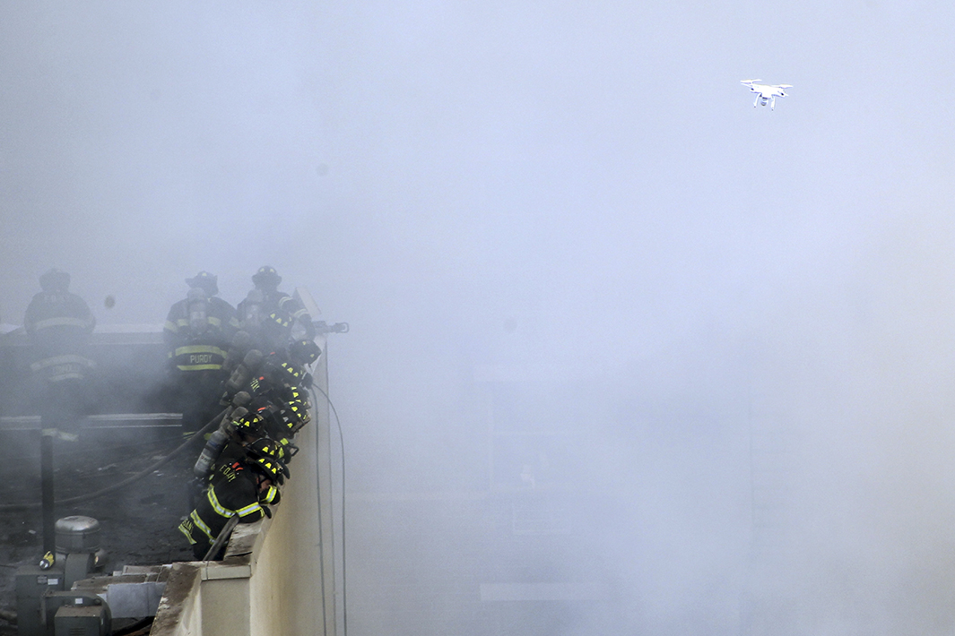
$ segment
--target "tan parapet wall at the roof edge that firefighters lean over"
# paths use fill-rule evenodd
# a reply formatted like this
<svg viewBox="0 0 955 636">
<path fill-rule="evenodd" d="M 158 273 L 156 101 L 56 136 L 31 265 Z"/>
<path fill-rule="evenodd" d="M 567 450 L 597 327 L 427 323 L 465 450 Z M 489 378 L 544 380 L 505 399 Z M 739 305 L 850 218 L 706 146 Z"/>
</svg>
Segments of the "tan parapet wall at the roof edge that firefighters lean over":
<svg viewBox="0 0 955 636">
<path fill-rule="evenodd" d="M 327 395 L 325 356 L 314 377 Z M 223 561 L 173 564 L 152 636 L 336 634 L 329 407 L 312 406 L 272 518 L 236 526 Z"/>
</svg>

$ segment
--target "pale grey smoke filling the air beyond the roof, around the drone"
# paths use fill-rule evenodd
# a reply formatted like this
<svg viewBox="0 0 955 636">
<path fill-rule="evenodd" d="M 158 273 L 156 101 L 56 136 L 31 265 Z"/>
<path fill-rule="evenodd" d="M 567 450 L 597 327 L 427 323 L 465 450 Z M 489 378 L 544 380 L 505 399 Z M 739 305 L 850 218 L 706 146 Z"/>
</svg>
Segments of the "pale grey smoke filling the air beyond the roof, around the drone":
<svg viewBox="0 0 955 636">
<path fill-rule="evenodd" d="M 949 633 L 952 25 L 6 3 L 0 318 L 51 266 L 105 326 L 270 264 L 348 320 L 356 633 Z M 556 583 L 599 600 L 487 600 Z"/>
</svg>

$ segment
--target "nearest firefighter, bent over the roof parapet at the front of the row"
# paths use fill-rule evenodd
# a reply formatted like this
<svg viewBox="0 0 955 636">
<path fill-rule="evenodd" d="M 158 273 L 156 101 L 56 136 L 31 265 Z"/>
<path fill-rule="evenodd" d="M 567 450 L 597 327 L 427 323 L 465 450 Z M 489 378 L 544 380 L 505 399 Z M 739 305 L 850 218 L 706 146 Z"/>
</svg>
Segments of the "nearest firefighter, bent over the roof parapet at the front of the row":
<svg viewBox="0 0 955 636">
<path fill-rule="evenodd" d="M 288 476 L 280 452 L 277 442 L 265 439 L 245 447 L 226 446 L 199 503 L 179 525 L 196 559 L 204 558 L 232 517 L 238 516 L 239 523 L 254 523 L 264 515 L 272 516 L 267 506 L 279 503 L 278 487 Z"/>
</svg>

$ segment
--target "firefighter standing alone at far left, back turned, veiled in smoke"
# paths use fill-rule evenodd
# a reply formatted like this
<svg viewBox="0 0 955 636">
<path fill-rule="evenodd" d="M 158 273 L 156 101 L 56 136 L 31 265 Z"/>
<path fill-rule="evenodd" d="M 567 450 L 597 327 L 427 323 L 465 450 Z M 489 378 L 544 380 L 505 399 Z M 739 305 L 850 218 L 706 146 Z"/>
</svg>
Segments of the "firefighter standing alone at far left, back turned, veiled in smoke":
<svg viewBox="0 0 955 636">
<path fill-rule="evenodd" d="M 23 326 L 33 347 L 31 370 L 42 387 L 43 428 L 75 433 L 89 395 L 94 367 L 87 358 L 96 318 L 83 298 L 70 293 L 70 275 L 53 268 L 40 277 L 41 292 L 27 307 Z"/>
</svg>

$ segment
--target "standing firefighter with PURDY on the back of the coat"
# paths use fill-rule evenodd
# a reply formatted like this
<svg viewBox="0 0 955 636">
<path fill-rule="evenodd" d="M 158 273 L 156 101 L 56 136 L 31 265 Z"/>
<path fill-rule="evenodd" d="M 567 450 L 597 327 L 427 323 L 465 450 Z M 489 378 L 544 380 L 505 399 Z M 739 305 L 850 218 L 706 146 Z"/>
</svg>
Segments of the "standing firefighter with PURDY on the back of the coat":
<svg viewBox="0 0 955 636">
<path fill-rule="evenodd" d="M 200 272 L 186 278 L 189 292 L 174 304 L 162 330 L 169 371 L 182 411 L 182 434 L 190 436 L 220 410 L 226 351 L 238 331 L 235 309 L 218 297 L 218 277 Z"/>
</svg>

